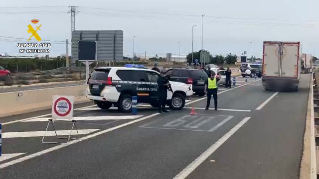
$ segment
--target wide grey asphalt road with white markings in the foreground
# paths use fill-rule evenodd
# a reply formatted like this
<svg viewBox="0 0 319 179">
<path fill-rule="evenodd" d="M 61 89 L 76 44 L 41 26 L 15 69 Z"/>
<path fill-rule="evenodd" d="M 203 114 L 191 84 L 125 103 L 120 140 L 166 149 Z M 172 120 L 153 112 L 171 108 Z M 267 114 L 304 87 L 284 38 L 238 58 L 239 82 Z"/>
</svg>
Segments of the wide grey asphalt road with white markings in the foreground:
<svg viewBox="0 0 319 179">
<path fill-rule="evenodd" d="M 87 131 L 67 145 L 23 133 L 45 130 L 43 111 L 0 118 L 2 152 L 12 157 L 0 157 L 0 179 L 298 179 L 310 78 L 302 75 L 296 92 L 265 91 L 260 80 L 219 89 L 218 111 L 196 96 L 164 114 L 148 105 L 138 116 L 80 108 L 77 127 Z"/>
</svg>

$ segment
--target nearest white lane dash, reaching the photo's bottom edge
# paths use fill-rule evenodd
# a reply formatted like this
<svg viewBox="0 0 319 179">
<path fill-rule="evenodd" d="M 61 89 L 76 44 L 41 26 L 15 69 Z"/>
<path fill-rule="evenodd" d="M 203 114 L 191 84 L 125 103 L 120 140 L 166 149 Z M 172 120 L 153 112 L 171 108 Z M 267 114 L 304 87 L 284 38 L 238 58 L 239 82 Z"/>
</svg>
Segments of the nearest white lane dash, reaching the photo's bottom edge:
<svg viewBox="0 0 319 179">
<path fill-rule="evenodd" d="M 203 163 L 211 154 L 213 154 L 226 140 L 228 140 L 240 127 L 242 127 L 250 117 L 245 117 L 235 127 L 230 129 L 223 137 L 210 146 L 204 153 L 202 153 L 197 159 L 189 164 L 184 170 L 177 174 L 173 179 L 185 179 L 191 174 L 201 163 Z"/>
</svg>

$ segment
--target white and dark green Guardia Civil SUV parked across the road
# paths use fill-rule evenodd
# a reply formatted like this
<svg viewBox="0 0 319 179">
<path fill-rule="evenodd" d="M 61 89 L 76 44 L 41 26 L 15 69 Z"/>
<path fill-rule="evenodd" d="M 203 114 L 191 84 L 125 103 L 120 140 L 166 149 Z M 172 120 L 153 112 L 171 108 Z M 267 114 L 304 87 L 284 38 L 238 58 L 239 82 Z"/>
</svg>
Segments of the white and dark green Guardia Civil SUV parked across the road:
<svg viewBox="0 0 319 179">
<path fill-rule="evenodd" d="M 138 103 L 158 106 L 157 80 L 160 73 L 144 68 L 98 67 L 92 72 L 86 89 L 86 97 L 101 109 L 117 106 L 121 112 L 132 110 L 132 96 Z M 167 90 L 167 104 L 172 110 L 185 105 L 185 97 L 193 94 L 192 87 L 179 82 L 169 82 L 173 92 Z"/>
</svg>

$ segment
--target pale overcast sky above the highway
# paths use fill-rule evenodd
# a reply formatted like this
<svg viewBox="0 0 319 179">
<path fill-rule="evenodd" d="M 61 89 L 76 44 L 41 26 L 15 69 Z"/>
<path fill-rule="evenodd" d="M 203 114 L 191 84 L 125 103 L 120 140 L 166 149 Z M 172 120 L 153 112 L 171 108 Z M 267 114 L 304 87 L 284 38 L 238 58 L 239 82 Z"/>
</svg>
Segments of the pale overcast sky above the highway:
<svg viewBox="0 0 319 179">
<path fill-rule="evenodd" d="M 123 30 L 125 56 L 133 54 L 134 35 L 138 55 L 178 54 L 178 41 L 180 54 L 187 54 L 192 25 L 199 50 L 201 14 L 203 48 L 213 55 L 250 56 L 253 42 L 252 55 L 261 57 L 263 41 L 300 41 L 303 53 L 315 48 L 319 54 L 318 0 L 2 0 L 0 36 L 28 38 L 27 25 L 37 18 L 42 40 L 70 39 L 68 5 L 79 6 L 76 30 Z M 0 53 L 18 55 L 16 43 L 0 37 Z M 64 44 L 52 45 L 50 56 L 65 54 Z"/>
</svg>

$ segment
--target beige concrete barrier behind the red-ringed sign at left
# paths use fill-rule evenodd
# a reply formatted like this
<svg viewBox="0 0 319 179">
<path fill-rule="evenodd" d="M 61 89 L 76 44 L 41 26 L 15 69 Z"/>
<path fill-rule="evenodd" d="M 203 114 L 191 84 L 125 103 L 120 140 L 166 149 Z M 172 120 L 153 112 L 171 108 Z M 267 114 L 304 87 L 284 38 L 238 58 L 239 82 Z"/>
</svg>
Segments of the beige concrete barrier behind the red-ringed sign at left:
<svg viewBox="0 0 319 179">
<path fill-rule="evenodd" d="M 88 102 L 85 85 L 0 93 L 0 117 L 49 109 L 52 95 L 74 95 L 75 103 Z"/>
</svg>

